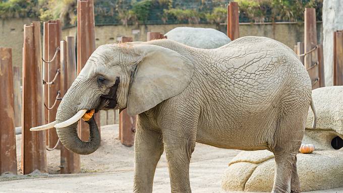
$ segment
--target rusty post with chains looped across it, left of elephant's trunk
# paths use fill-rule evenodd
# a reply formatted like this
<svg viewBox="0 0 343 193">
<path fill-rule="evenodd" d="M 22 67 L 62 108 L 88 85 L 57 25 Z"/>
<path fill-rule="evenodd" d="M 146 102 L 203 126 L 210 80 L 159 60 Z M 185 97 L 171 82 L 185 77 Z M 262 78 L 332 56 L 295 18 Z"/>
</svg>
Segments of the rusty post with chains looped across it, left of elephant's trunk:
<svg viewBox="0 0 343 193">
<path fill-rule="evenodd" d="M 51 82 L 58 71 L 60 70 L 60 51 L 56 50 L 60 47 L 61 35 L 62 35 L 62 25 L 60 20 L 56 21 L 49 21 L 47 24 L 47 32 L 48 32 L 48 82 Z M 56 56 L 55 56 L 56 54 Z M 55 58 L 54 58 L 55 56 Z M 48 104 L 45 104 L 49 107 L 48 111 L 48 122 L 52 122 L 56 118 L 57 109 L 60 105 L 60 100 L 56 101 L 56 97 L 59 95 L 60 92 L 60 76 L 57 76 L 53 84 L 45 85 L 48 87 Z M 53 128 L 49 131 L 49 148 L 55 147 L 56 143 L 59 140 L 57 136 L 56 130 Z M 60 149 L 58 146 L 56 149 Z"/>
</svg>

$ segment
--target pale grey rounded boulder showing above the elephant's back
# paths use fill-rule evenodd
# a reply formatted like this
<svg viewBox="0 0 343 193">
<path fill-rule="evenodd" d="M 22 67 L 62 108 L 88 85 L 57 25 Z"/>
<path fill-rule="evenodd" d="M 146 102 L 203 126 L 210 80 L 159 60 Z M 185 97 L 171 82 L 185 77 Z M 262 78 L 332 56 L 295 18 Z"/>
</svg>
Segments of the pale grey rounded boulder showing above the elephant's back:
<svg viewBox="0 0 343 193">
<path fill-rule="evenodd" d="M 224 33 L 212 28 L 177 27 L 164 35 L 168 39 L 203 49 L 214 49 L 231 42 Z"/>
</svg>

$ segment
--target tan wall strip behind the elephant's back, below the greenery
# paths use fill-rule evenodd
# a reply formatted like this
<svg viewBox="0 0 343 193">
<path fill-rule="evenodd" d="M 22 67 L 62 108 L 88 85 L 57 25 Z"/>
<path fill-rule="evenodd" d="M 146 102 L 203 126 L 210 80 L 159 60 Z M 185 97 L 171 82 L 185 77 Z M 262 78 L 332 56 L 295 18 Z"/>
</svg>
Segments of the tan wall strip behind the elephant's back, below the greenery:
<svg viewBox="0 0 343 193">
<path fill-rule="evenodd" d="M 214 28 L 212 24 L 175 24 L 175 25 L 148 25 L 148 26 L 96 26 L 96 45 L 116 43 L 121 36 L 133 37 L 134 41 L 146 41 L 149 31 L 166 33 L 176 27 L 203 27 Z M 317 23 L 318 42 L 323 42 L 322 23 Z M 219 29 L 226 34 L 226 25 L 220 25 Z M 76 28 L 63 30 L 63 36 L 75 36 Z M 240 24 L 240 36 L 264 36 L 284 43 L 293 49 L 298 41 L 304 41 L 304 23 L 276 23 L 276 24 Z"/>
</svg>

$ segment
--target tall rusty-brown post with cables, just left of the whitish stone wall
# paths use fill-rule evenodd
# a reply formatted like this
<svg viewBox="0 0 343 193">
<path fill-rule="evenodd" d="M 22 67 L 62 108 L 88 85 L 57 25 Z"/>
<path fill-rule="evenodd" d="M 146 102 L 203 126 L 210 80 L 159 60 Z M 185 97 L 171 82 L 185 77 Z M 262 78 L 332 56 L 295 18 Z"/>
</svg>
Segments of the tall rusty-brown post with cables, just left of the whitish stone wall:
<svg viewBox="0 0 343 193">
<path fill-rule="evenodd" d="M 304 51 L 309 52 L 317 45 L 317 27 L 316 27 L 316 10 L 314 8 L 305 9 L 305 35 Z M 312 81 L 312 89 L 319 88 L 318 67 L 315 66 L 318 61 L 317 51 L 312 51 L 305 55 L 305 68 L 308 69 Z M 311 69 L 310 69 L 311 68 Z"/>
</svg>

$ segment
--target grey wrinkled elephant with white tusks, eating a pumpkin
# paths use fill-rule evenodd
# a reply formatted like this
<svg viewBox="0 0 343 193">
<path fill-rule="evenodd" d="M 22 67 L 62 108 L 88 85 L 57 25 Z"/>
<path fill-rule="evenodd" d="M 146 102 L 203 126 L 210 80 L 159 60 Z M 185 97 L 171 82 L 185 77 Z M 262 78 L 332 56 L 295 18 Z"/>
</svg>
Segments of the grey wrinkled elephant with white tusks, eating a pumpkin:
<svg viewBox="0 0 343 193">
<path fill-rule="evenodd" d="M 77 121 L 85 113 L 127 108 L 138 115 L 134 192 L 152 192 L 163 151 L 172 192 L 191 192 L 196 142 L 269 150 L 276 166 L 272 192 L 299 192 L 297 152 L 309 107 L 315 112 L 311 101 L 301 61 L 270 38 L 242 37 L 217 49 L 168 39 L 108 44 L 92 53 L 63 97 L 54 127 L 67 149 L 90 154 L 100 136 L 93 116 L 89 141 L 79 139 Z"/>
</svg>

